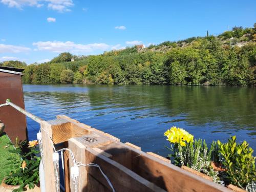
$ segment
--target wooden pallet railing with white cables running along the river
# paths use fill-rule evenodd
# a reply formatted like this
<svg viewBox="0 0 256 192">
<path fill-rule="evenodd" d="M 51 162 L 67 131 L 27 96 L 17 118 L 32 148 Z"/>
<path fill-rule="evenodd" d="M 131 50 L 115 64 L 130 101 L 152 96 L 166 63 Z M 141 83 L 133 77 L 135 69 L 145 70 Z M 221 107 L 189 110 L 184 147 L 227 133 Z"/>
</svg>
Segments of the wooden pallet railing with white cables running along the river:
<svg viewBox="0 0 256 192">
<path fill-rule="evenodd" d="M 55 191 L 52 142 L 69 148 L 77 162 L 98 164 L 116 191 L 230 191 L 224 186 L 187 172 L 154 153 L 144 153 L 140 147 L 122 143 L 67 116 L 41 121 L 42 147 L 46 191 Z M 46 134 L 48 133 L 48 135 Z M 65 152 L 65 189 L 75 191 L 70 179 L 73 166 Z M 111 191 L 110 185 L 96 167 L 79 166 L 78 191 Z"/>
</svg>

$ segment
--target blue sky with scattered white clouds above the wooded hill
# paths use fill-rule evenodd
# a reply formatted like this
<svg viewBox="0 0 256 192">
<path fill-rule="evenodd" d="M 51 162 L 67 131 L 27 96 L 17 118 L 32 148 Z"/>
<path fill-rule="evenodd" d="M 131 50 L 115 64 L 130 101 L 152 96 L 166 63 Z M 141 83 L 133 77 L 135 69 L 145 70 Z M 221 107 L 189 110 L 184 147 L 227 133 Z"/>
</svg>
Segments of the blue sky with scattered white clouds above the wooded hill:
<svg viewBox="0 0 256 192">
<path fill-rule="evenodd" d="M 252 27 L 256 1 L 0 0 L 0 61 L 48 61 Z"/>
</svg>

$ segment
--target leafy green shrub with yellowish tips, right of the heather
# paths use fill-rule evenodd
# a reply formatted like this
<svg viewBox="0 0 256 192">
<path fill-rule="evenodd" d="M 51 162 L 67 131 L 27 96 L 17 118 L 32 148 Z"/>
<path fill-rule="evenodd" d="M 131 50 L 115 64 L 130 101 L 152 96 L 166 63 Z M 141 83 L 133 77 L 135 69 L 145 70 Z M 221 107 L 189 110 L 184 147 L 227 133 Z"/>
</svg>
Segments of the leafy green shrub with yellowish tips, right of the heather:
<svg viewBox="0 0 256 192">
<path fill-rule="evenodd" d="M 246 141 L 239 144 L 236 140 L 236 136 L 228 139 L 227 143 L 218 140 L 219 152 L 227 169 L 225 177 L 230 183 L 245 188 L 247 184 L 256 181 L 255 157 L 252 156 L 253 150 Z"/>
</svg>

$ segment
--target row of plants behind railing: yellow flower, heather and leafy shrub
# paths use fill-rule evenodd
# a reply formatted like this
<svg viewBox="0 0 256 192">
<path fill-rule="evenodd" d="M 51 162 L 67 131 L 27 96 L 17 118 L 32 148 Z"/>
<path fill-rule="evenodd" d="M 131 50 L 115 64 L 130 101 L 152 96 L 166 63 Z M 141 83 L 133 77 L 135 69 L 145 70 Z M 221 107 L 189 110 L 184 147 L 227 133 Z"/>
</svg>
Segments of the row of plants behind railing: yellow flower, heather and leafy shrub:
<svg viewBox="0 0 256 192">
<path fill-rule="evenodd" d="M 172 154 L 168 156 L 174 164 L 236 192 L 256 191 L 255 157 L 246 141 L 238 144 L 233 136 L 225 144 L 212 141 L 208 149 L 205 141 L 194 141 L 192 135 L 175 126 L 164 135 L 170 142 L 167 148 Z"/>
</svg>

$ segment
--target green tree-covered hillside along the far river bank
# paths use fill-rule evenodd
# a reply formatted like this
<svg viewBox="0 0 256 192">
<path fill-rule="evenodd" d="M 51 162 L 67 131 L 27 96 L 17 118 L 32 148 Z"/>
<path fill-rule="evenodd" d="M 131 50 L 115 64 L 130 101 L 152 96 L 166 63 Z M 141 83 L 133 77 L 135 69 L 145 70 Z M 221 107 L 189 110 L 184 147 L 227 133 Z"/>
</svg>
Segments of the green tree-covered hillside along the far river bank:
<svg viewBox="0 0 256 192">
<path fill-rule="evenodd" d="M 246 44 L 239 47 L 238 42 Z M 255 86 L 256 25 L 234 27 L 219 36 L 207 32 L 205 37 L 165 41 L 143 50 L 134 46 L 80 57 L 61 53 L 41 64 L 0 65 L 24 68 L 25 83 Z"/>
</svg>

